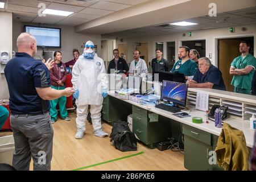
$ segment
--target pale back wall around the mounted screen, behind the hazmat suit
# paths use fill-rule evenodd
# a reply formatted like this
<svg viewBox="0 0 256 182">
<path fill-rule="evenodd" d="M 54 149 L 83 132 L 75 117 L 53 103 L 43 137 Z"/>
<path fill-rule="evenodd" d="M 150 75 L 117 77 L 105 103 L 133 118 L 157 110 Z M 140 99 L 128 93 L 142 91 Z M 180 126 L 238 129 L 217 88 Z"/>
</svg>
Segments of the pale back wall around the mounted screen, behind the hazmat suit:
<svg viewBox="0 0 256 182">
<path fill-rule="evenodd" d="M 21 23 L 21 22 L 13 22 L 13 49 L 14 51 L 18 51 L 16 47 L 16 39 L 19 34 L 23 32 L 24 24 L 38 26 L 38 24 L 32 23 Z M 57 27 L 61 28 L 61 48 L 49 48 L 49 51 L 61 51 L 63 54 L 63 62 L 67 62 L 73 59 L 72 50 L 73 48 L 77 48 L 82 54 L 83 49 L 81 45 L 86 43 L 88 40 L 92 40 L 92 42 L 97 45 L 98 56 L 101 56 L 101 35 L 100 34 L 78 34 L 74 31 L 73 27 L 68 26 L 49 26 L 49 27 Z M 47 50 L 47 49 L 46 49 Z M 42 49 L 38 48 L 37 55 L 42 56 Z"/>
</svg>

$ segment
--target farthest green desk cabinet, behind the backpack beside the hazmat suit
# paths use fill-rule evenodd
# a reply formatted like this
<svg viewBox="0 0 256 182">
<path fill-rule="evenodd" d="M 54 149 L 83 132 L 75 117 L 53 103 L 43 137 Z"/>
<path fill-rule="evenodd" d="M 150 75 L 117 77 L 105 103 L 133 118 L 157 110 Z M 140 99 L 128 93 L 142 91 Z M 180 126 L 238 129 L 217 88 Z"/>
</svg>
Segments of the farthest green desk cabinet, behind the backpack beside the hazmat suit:
<svg viewBox="0 0 256 182">
<path fill-rule="evenodd" d="M 109 123 L 118 120 L 127 121 L 127 116 L 131 114 L 131 104 L 108 96 L 102 102 L 101 118 Z"/>
</svg>

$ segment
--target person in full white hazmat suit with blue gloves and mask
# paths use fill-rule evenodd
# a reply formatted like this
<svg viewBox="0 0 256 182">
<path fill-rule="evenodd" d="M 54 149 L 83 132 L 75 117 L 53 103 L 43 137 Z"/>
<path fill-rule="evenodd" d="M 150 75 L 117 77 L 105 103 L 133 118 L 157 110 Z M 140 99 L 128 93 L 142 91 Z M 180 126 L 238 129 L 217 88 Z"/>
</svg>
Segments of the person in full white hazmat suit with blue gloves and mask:
<svg viewBox="0 0 256 182">
<path fill-rule="evenodd" d="M 108 133 L 102 131 L 101 108 L 103 97 L 108 96 L 108 79 L 104 61 L 94 52 L 93 42 L 86 42 L 84 53 L 73 66 L 71 81 L 76 90 L 73 94 L 77 105 L 77 133 L 75 138 L 81 139 L 85 134 L 88 105 L 90 105 L 94 135 L 97 137 L 107 136 Z"/>
</svg>

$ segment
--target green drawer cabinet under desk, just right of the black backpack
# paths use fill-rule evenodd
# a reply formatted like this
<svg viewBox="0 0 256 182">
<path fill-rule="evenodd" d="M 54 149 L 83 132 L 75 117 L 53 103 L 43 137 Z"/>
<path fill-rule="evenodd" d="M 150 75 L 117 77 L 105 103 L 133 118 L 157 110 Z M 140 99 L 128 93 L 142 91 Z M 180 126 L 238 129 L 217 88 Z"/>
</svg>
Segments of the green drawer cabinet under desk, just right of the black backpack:
<svg viewBox="0 0 256 182">
<path fill-rule="evenodd" d="M 133 105 L 133 132 L 138 139 L 150 148 L 157 142 L 171 137 L 170 119 L 158 116 L 157 122 L 150 122 L 150 111 Z"/>
</svg>

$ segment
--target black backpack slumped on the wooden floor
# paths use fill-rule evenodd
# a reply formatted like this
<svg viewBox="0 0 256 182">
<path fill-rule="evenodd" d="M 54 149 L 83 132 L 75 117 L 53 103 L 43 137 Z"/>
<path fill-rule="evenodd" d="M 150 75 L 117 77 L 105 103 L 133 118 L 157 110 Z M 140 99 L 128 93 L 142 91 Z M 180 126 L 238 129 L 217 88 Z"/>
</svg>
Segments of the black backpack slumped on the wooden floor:
<svg viewBox="0 0 256 182">
<path fill-rule="evenodd" d="M 113 123 L 112 132 L 109 138 L 110 142 L 113 142 L 115 148 L 120 151 L 137 150 L 137 139 L 135 134 L 131 132 L 128 123 L 125 121 Z"/>
</svg>

